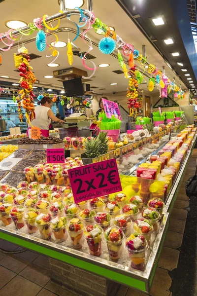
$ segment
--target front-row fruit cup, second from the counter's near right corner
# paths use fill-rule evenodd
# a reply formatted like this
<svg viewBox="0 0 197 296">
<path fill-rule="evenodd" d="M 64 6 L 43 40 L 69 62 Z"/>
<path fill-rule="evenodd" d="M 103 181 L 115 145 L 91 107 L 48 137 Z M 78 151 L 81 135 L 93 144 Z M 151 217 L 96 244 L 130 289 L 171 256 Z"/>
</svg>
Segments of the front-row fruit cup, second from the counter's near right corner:
<svg viewBox="0 0 197 296">
<path fill-rule="evenodd" d="M 104 232 L 109 258 L 117 260 L 121 257 L 123 249 L 124 232 L 115 226 L 108 227 Z"/>
</svg>

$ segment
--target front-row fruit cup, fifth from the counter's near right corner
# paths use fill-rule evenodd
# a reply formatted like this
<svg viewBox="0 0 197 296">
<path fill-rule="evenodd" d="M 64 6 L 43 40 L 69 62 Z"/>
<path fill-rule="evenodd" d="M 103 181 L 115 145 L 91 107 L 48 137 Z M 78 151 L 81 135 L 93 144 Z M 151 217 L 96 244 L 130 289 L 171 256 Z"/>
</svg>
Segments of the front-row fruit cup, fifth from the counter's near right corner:
<svg viewBox="0 0 197 296">
<path fill-rule="evenodd" d="M 67 238 L 66 223 L 66 217 L 56 216 L 53 220 L 51 220 L 51 229 L 57 240 L 57 243 L 61 243 Z"/>
</svg>

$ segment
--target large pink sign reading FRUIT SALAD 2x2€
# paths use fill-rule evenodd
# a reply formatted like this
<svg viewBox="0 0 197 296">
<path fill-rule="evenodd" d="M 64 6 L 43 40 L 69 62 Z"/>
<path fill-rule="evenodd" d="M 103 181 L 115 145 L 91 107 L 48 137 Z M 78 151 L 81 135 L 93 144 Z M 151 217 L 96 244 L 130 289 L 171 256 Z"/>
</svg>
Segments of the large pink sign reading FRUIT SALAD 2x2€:
<svg viewBox="0 0 197 296">
<path fill-rule="evenodd" d="M 67 172 L 75 203 L 122 190 L 114 158 L 69 169 Z"/>
</svg>

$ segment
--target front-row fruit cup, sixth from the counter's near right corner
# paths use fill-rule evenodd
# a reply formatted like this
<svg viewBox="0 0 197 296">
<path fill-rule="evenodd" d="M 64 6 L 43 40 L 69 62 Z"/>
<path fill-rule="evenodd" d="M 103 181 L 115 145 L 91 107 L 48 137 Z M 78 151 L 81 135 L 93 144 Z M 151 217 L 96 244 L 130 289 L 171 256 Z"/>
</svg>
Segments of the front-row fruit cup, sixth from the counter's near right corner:
<svg viewBox="0 0 197 296">
<path fill-rule="evenodd" d="M 52 230 L 50 227 L 51 215 L 49 213 L 41 213 L 35 219 L 35 225 L 39 229 L 40 236 L 42 239 L 50 239 Z"/>
</svg>

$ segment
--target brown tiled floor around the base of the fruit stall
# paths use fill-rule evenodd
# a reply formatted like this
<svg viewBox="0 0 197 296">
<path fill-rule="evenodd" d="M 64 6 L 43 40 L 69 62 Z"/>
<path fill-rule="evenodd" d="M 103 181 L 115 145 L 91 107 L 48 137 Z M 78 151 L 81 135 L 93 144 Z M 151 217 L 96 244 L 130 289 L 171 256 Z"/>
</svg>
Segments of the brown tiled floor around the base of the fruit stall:
<svg viewBox="0 0 197 296">
<path fill-rule="evenodd" d="M 194 149 L 188 169 L 170 216 L 164 248 L 151 288 L 151 296 L 177 296 L 170 292 L 170 272 L 177 268 L 180 247 L 187 219 L 189 198 L 185 194 L 185 181 L 195 174 L 197 149 Z M 21 250 L 17 245 L 0 240 L 0 248 Z M 161 280 L 162 279 L 162 280 Z M 37 253 L 26 251 L 18 255 L 0 253 L 0 296 L 76 296 L 50 282 L 49 260 Z M 145 296 L 144 293 L 122 286 L 117 296 Z M 193 295 L 197 296 L 197 294 Z"/>
</svg>

